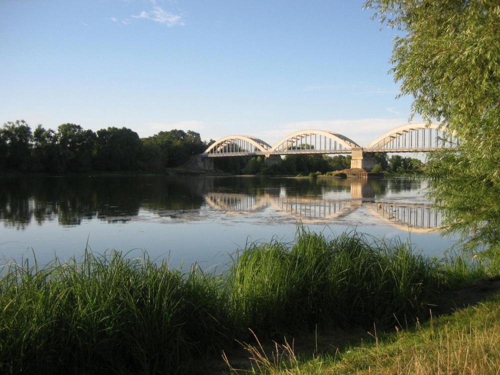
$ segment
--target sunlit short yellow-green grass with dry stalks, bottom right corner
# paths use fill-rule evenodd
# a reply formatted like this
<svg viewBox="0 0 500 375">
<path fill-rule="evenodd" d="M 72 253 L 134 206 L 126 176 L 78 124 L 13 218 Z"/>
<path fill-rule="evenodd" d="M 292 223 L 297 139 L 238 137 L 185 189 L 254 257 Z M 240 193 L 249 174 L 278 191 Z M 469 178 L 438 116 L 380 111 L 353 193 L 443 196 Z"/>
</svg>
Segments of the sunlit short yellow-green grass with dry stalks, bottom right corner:
<svg viewBox="0 0 500 375">
<path fill-rule="evenodd" d="M 500 293 L 451 315 L 398 329 L 371 342 L 301 359 L 288 343 L 275 343 L 268 355 L 255 337 L 243 344 L 250 370 L 231 373 L 294 374 L 474 374 L 500 373 Z"/>
</svg>

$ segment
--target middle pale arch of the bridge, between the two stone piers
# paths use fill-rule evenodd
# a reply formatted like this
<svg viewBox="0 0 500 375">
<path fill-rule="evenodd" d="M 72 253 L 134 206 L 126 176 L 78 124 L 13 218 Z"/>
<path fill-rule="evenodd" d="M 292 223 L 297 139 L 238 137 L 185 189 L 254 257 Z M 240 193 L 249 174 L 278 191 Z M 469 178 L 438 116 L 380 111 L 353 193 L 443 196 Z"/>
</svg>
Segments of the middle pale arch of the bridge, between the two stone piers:
<svg viewBox="0 0 500 375">
<path fill-rule="evenodd" d="M 295 148 L 293 148 L 293 146 L 295 146 Z M 307 146 L 310 148 L 307 148 Z M 270 147 L 270 150 L 271 152 L 279 153 L 295 153 L 300 151 L 316 150 L 324 153 L 324 151 L 334 152 L 350 150 L 352 147 L 359 147 L 359 145 L 352 139 L 347 138 L 345 135 L 328 130 L 306 129 L 288 134 Z"/>
</svg>

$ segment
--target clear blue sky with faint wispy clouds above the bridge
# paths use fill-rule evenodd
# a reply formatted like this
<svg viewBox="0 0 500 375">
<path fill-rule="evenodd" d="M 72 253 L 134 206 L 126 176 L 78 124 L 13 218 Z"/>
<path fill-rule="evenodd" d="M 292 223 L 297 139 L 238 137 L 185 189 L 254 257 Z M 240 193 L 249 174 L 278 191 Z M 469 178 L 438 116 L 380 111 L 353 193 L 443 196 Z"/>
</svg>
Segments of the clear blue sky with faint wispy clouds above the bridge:
<svg viewBox="0 0 500 375">
<path fill-rule="evenodd" d="M 356 0 L 0 0 L 0 123 L 358 144 L 407 122 L 395 31 Z"/>
</svg>

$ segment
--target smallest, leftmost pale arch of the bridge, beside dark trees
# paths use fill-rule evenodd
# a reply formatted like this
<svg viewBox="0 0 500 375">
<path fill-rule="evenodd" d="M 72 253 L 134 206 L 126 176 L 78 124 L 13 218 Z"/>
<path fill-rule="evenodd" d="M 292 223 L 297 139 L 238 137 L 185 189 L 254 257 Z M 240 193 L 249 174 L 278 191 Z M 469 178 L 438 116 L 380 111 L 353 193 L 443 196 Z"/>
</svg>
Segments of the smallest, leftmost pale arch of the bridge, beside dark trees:
<svg viewBox="0 0 500 375">
<path fill-rule="evenodd" d="M 252 154 L 268 152 L 270 145 L 261 139 L 249 135 L 228 135 L 210 144 L 205 150 L 207 154 Z"/>
</svg>

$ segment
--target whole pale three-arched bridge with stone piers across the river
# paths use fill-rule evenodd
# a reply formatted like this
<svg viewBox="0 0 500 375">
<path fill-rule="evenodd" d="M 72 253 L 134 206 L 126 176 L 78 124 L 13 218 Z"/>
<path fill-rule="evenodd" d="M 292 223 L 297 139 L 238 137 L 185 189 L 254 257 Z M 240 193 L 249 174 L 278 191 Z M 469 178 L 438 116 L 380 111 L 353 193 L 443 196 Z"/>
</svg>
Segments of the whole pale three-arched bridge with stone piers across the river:
<svg viewBox="0 0 500 375">
<path fill-rule="evenodd" d="M 201 157 L 258 156 L 274 162 L 289 154 L 351 154 L 351 168 L 370 170 L 375 165 L 374 152 L 430 152 L 459 144 L 453 133 L 439 124 L 407 123 L 360 146 L 345 135 L 305 129 L 288 134 L 274 145 L 249 135 L 224 136 L 208 146 Z"/>
</svg>

